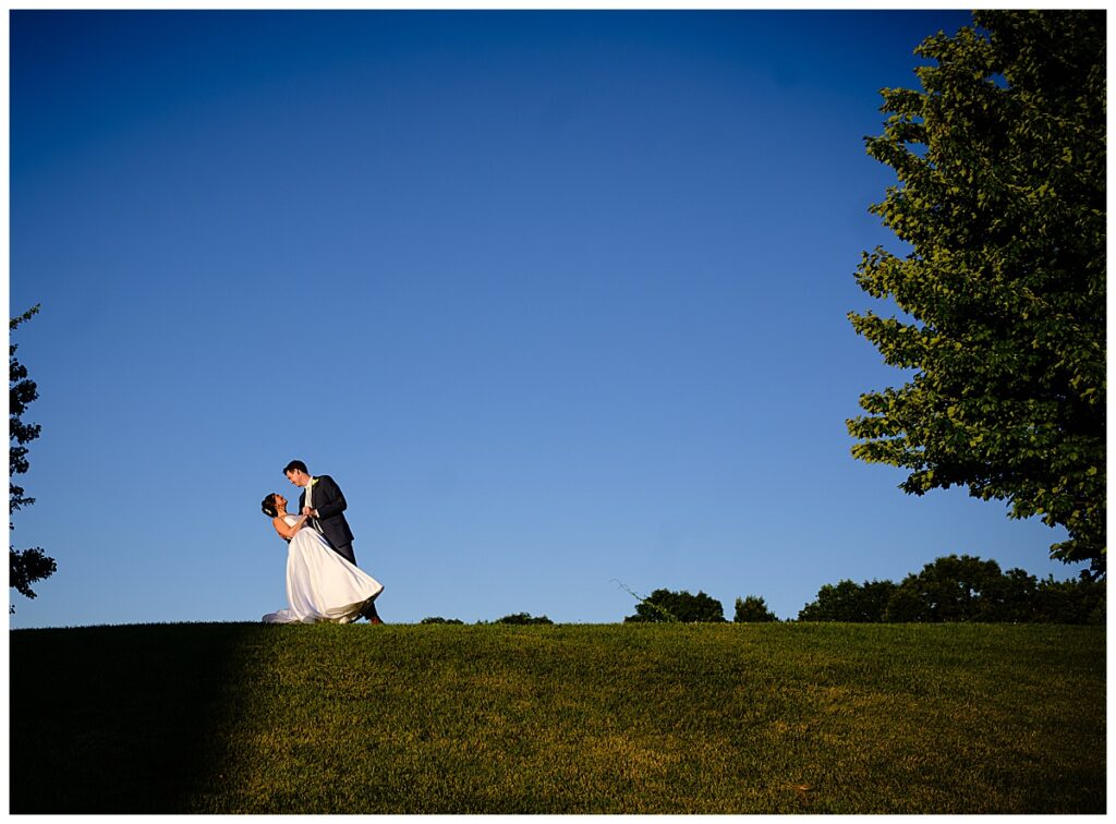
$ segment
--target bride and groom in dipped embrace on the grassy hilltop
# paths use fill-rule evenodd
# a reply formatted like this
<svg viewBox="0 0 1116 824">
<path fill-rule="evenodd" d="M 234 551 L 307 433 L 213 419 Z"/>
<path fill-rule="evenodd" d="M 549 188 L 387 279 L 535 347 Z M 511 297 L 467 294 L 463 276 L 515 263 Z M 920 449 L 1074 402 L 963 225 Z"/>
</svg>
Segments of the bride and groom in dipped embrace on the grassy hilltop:
<svg viewBox="0 0 1116 824">
<path fill-rule="evenodd" d="M 311 476 L 302 461 L 288 463 L 283 475 L 302 489 L 298 514 L 287 511 L 287 499 L 279 492 L 267 496 L 262 508 L 288 542 L 289 607 L 268 613 L 264 623 L 349 624 L 362 617 L 383 623 L 375 602 L 384 585 L 356 565 L 340 488 L 328 475 Z"/>
</svg>

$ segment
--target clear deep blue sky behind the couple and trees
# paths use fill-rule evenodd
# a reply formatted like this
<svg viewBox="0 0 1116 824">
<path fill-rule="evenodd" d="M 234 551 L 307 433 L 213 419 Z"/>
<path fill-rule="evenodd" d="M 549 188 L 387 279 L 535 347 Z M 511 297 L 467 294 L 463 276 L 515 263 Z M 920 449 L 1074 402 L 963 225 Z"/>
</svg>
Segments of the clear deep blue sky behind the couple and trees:
<svg viewBox="0 0 1116 824">
<path fill-rule="evenodd" d="M 10 315 L 42 425 L 11 626 L 254 621 L 292 458 L 387 622 L 618 622 L 1064 538 L 845 420 L 878 89 L 963 11 L 13 11 Z"/>
</svg>

